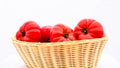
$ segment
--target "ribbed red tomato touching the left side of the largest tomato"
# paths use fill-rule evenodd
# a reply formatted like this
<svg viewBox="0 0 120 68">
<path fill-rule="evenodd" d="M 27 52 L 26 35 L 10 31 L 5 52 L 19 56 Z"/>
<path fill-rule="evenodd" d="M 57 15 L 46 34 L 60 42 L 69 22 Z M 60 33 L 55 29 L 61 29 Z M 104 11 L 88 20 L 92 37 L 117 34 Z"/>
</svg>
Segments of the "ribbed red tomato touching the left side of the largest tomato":
<svg viewBox="0 0 120 68">
<path fill-rule="evenodd" d="M 55 25 L 51 30 L 51 42 L 63 42 L 75 40 L 73 30 L 63 24 Z"/>
</svg>

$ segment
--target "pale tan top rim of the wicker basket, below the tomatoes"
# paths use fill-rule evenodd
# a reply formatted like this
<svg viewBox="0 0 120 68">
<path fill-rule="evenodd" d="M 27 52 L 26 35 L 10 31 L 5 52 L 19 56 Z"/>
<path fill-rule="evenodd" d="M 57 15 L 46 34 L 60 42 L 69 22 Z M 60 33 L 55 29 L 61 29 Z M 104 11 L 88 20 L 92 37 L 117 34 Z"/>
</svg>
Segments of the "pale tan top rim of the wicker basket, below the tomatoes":
<svg viewBox="0 0 120 68">
<path fill-rule="evenodd" d="M 102 38 L 94 38 L 94 39 L 87 39 L 87 40 L 75 40 L 75 41 L 65 41 L 65 42 L 50 42 L 50 43 L 41 43 L 41 42 L 26 42 L 26 41 L 20 41 L 20 40 L 17 40 L 14 37 L 12 37 L 12 42 L 13 43 L 20 43 L 20 44 L 30 44 L 30 46 L 58 46 L 58 45 L 68 45 L 68 44 L 82 44 L 82 43 L 89 43 L 89 42 L 98 42 L 98 41 L 101 41 L 101 40 L 108 40 L 108 37 L 105 35 L 104 37 Z"/>
</svg>

